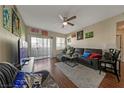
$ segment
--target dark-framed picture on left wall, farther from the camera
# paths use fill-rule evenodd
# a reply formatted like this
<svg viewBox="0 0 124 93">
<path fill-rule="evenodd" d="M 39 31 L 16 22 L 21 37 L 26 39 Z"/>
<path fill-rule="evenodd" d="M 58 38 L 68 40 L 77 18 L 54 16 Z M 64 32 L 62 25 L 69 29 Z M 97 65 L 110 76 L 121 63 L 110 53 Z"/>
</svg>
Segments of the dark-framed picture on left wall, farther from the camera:
<svg viewBox="0 0 124 93">
<path fill-rule="evenodd" d="M 20 19 L 14 10 L 12 10 L 12 33 L 18 37 L 21 36 Z"/>
</svg>

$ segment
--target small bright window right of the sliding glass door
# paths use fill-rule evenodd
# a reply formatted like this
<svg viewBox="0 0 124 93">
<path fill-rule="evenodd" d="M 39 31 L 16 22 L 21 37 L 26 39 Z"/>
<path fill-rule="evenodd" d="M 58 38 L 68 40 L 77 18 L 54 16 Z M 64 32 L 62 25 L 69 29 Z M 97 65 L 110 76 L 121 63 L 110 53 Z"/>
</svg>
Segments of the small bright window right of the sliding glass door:
<svg viewBox="0 0 124 93">
<path fill-rule="evenodd" d="M 65 48 L 65 38 L 56 37 L 56 50 Z"/>
</svg>

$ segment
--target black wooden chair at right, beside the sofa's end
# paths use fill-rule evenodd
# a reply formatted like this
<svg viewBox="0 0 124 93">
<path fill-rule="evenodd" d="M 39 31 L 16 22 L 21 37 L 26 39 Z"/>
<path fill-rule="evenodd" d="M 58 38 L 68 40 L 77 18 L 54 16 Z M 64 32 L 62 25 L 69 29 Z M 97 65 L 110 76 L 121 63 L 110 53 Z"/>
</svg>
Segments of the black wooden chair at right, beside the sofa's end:
<svg viewBox="0 0 124 93">
<path fill-rule="evenodd" d="M 103 58 L 99 60 L 99 69 L 111 72 L 116 75 L 118 82 L 120 81 L 120 60 L 118 59 L 120 55 L 120 50 L 109 50 L 105 53 Z"/>
</svg>

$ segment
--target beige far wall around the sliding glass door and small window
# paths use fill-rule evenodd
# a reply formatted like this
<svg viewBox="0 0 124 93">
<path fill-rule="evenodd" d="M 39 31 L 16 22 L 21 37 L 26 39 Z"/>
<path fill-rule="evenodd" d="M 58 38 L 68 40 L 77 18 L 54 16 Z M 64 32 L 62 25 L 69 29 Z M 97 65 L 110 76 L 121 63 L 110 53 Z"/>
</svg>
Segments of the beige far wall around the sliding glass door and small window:
<svg viewBox="0 0 124 93">
<path fill-rule="evenodd" d="M 27 41 L 29 43 L 29 55 L 31 52 L 31 36 L 36 36 L 36 37 L 43 37 L 41 33 L 34 33 L 31 32 L 31 27 L 28 27 L 28 34 L 27 34 Z M 56 57 L 57 54 L 59 54 L 60 51 L 56 50 L 56 37 L 64 37 L 66 38 L 66 35 L 57 33 L 57 32 L 52 32 L 48 31 L 48 38 L 53 38 L 52 39 L 52 57 Z"/>
</svg>

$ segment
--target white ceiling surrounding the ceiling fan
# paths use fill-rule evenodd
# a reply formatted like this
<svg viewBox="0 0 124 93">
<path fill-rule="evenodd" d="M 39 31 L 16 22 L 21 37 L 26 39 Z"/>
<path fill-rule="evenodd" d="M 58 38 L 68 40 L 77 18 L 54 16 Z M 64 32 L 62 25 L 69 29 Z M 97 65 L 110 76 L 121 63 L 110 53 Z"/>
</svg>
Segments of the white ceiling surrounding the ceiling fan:
<svg viewBox="0 0 124 93">
<path fill-rule="evenodd" d="M 124 12 L 124 5 L 18 5 L 17 8 L 26 25 L 64 34 Z M 77 18 L 70 21 L 75 25 L 62 28 L 59 14 L 76 15 Z"/>
</svg>

